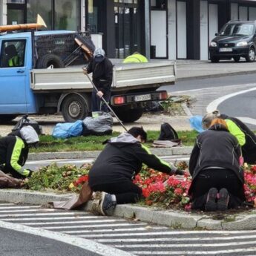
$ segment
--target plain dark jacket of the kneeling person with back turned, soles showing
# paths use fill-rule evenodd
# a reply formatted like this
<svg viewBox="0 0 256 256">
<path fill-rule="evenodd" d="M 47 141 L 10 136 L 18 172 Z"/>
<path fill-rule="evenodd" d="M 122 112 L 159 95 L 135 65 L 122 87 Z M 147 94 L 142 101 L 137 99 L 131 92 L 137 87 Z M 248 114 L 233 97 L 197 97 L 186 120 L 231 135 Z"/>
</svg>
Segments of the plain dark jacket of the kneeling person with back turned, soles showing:
<svg viewBox="0 0 256 256">
<path fill-rule="evenodd" d="M 243 183 L 243 171 L 239 165 L 240 155 L 241 149 L 237 138 L 223 125 L 213 125 L 197 136 L 189 160 L 189 172 L 194 180 L 203 169 L 227 168 L 234 171 Z"/>
</svg>

